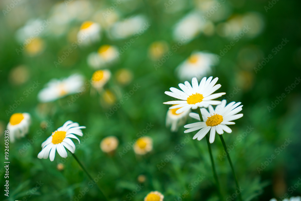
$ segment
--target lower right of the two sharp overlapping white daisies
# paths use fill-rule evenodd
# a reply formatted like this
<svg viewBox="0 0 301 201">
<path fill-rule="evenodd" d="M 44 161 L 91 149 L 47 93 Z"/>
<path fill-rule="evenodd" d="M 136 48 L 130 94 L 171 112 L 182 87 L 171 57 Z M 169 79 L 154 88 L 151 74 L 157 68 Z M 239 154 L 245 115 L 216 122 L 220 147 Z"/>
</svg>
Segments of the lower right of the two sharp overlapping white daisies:
<svg viewBox="0 0 301 201">
<path fill-rule="evenodd" d="M 239 119 L 243 114 L 237 114 L 242 110 L 241 102 L 230 102 L 226 105 L 227 101 L 222 100 L 220 105 L 217 105 L 215 110 L 212 105 L 209 105 L 209 112 L 205 108 L 200 108 L 204 121 L 187 124 L 184 127 L 189 128 L 184 133 L 190 133 L 199 130 L 192 139 L 201 140 L 210 130 L 209 142 L 213 143 L 215 139 L 215 132 L 222 135 L 225 132 L 231 133 L 232 130 L 227 125 L 235 124 L 233 120 Z M 238 106 L 240 105 L 240 106 Z M 197 113 L 190 113 L 189 116 L 200 121 Z"/>
</svg>

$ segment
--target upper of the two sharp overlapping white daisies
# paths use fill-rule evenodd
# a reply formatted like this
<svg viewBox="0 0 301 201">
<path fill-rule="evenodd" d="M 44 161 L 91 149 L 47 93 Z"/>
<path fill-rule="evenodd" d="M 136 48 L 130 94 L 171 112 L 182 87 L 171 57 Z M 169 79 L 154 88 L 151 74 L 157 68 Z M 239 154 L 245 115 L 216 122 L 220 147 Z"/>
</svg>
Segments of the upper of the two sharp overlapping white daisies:
<svg viewBox="0 0 301 201">
<path fill-rule="evenodd" d="M 207 108 L 209 105 L 219 105 L 221 102 L 213 99 L 221 97 L 226 93 L 222 92 L 222 93 L 212 94 L 213 92 L 215 92 L 221 87 L 220 84 L 215 85 L 218 79 L 219 78 L 217 77 L 214 78 L 213 80 L 212 77 L 209 77 L 208 79 L 206 79 L 206 77 L 203 77 L 203 79 L 200 81 L 200 84 L 198 84 L 197 78 L 194 77 L 191 80 L 192 86 L 188 81 L 184 82 L 185 85 L 180 83 L 179 87 L 183 91 L 171 87 L 170 88 L 171 92 L 166 91 L 165 94 L 181 100 L 168 101 L 163 103 L 174 105 L 171 106 L 169 109 L 179 108 L 177 111 L 175 111 L 176 114 L 180 114 L 191 108 L 192 109 L 197 109 L 198 107 Z"/>
</svg>

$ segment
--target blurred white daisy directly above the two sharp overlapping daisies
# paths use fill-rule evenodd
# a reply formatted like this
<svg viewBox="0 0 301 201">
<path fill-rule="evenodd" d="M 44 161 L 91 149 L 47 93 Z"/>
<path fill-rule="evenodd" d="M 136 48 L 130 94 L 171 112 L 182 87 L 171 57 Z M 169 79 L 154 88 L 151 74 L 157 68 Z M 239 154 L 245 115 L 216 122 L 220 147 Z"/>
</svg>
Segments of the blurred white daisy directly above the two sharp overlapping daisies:
<svg viewBox="0 0 301 201">
<path fill-rule="evenodd" d="M 178 77 L 180 80 L 190 80 L 193 77 L 204 77 L 211 73 L 211 66 L 216 63 L 217 60 L 214 54 L 194 52 L 177 67 Z"/>
</svg>

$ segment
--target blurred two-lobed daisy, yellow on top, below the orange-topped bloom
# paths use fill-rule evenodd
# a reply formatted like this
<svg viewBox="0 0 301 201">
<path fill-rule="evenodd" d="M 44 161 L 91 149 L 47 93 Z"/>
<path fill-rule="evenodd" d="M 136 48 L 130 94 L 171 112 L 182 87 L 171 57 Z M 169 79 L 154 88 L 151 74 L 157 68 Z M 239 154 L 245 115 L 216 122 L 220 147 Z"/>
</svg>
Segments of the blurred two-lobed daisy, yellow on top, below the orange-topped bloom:
<svg viewBox="0 0 301 201">
<path fill-rule="evenodd" d="M 92 52 L 88 55 L 88 64 L 95 69 L 101 68 L 116 61 L 118 53 L 115 46 L 103 45 L 98 49 L 98 52 Z"/>
</svg>

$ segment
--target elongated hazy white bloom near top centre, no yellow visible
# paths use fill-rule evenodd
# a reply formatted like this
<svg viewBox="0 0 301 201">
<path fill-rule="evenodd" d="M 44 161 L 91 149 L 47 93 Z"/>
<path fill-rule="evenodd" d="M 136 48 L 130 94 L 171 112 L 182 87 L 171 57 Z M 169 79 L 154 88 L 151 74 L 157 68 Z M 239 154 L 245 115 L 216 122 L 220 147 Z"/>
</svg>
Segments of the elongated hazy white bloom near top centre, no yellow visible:
<svg viewBox="0 0 301 201">
<path fill-rule="evenodd" d="M 129 36 L 140 36 L 150 27 L 144 15 L 129 17 L 114 23 L 110 29 L 113 39 L 123 39 Z"/>
</svg>

